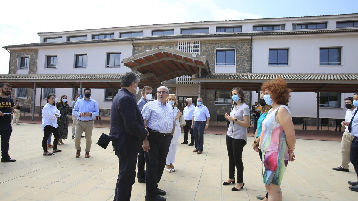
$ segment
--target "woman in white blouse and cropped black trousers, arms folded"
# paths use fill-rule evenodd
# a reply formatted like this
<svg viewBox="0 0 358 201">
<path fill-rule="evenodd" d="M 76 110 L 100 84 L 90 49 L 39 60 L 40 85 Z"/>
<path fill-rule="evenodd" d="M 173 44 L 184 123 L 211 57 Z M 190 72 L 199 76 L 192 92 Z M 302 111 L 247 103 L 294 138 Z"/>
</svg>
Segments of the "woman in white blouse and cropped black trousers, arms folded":
<svg viewBox="0 0 358 201">
<path fill-rule="evenodd" d="M 44 137 L 42 139 L 42 148 L 44 156 L 52 156 L 53 153 L 60 152 L 61 150 L 57 149 L 58 139 L 60 134 L 58 133 L 58 124 L 57 117 L 61 116 L 60 111 L 55 107 L 55 96 L 49 94 L 46 98 L 47 104 L 42 109 L 42 131 L 44 132 Z M 52 153 L 47 151 L 47 139 L 50 134 L 53 133 L 55 139 L 53 141 L 53 151 Z"/>
</svg>

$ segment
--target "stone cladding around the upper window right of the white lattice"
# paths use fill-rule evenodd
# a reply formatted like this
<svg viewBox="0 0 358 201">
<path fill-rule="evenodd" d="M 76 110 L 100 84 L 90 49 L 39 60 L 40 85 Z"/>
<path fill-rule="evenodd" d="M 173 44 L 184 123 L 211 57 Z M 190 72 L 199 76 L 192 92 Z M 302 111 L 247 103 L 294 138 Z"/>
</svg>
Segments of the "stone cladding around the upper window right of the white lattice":
<svg viewBox="0 0 358 201">
<path fill-rule="evenodd" d="M 202 40 L 200 55 L 207 57 L 210 70 L 215 73 L 216 48 L 236 48 L 236 73 L 252 73 L 251 40 Z"/>
</svg>

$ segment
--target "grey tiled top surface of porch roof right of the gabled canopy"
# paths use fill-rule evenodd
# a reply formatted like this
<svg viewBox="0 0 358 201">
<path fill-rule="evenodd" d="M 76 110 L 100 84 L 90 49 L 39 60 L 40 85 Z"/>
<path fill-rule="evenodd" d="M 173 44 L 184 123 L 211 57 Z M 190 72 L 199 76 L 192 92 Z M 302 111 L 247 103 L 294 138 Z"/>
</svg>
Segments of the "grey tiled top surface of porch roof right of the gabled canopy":
<svg viewBox="0 0 358 201">
<path fill-rule="evenodd" d="M 202 75 L 198 78 L 198 74 L 192 76 L 195 80 L 200 79 L 238 79 L 238 80 L 271 80 L 281 76 L 285 80 L 357 80 L 358 74 L 316 74 L 316 73 L 211 73 Z"/>
</svg>

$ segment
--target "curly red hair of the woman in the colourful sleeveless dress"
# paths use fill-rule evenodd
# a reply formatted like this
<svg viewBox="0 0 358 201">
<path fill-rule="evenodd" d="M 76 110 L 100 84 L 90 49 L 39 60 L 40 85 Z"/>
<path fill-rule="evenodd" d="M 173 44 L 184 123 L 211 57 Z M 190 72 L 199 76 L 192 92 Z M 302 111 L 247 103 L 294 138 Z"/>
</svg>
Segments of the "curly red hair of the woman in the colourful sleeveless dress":
<svg viewBox="0 0 358 201">
<path fill-rule="evenodd" d="M 269 82 L 262 84 L 261 91 L 265 93 L 265 90 L 271 92 L 271 98 L 277 104 L 287 104 L 290 102 L 290 92 L 291 89 L 287 88 L 287 82 L 282 77 L 277 77 Z"/>
</svg>

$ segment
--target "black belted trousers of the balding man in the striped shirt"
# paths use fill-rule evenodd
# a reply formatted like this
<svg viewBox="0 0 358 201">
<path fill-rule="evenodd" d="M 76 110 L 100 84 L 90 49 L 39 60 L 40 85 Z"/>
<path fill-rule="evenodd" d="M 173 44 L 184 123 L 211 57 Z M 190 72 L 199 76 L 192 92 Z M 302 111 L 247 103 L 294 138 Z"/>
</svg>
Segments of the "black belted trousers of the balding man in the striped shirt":
<svg viewBox="0 0 358 201">
<path fill-rule="evenodd" d="M 161 176 L 163 175 L 166 155 L 168 155 L 171 137 L 148 136 L 150 149 L 144 152 L 145 165 L 145 188 L 146 195 L 154 195 Z"/>
</svg>

